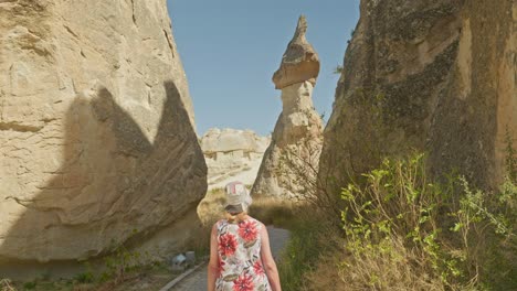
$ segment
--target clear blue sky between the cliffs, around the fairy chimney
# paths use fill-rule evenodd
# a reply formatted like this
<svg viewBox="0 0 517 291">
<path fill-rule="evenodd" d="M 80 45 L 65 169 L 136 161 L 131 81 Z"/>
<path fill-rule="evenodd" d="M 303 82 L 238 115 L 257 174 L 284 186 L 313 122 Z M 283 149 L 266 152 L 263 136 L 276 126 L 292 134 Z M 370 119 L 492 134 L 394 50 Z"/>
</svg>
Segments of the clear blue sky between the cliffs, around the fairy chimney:
<svg viewBox="0 0 517 291">
<path fill-rule="evenodd" d="M 273 131 L 282 111 L 271 77 L 278 68 L 299 14 L 321 71 L 314 89 L 316 109 L 331 112 L 359 0 L 168 0 L 172 30 L 192 97 L 198 134 L 209 128 Z"/>
</svg>

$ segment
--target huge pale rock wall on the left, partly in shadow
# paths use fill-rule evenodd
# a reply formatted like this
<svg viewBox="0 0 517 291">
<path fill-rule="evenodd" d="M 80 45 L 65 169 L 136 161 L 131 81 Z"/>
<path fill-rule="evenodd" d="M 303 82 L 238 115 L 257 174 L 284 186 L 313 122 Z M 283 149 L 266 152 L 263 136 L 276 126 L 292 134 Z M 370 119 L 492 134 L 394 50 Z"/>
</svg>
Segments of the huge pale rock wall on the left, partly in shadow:
<svg viewBox="0 0 517 291">
<path fill-rule="evenodd" d="M 1 263 L 94 257 L 196 209 L 207 166 L 165 1 L 0 1 L 0 31 Z"/>
</svg>

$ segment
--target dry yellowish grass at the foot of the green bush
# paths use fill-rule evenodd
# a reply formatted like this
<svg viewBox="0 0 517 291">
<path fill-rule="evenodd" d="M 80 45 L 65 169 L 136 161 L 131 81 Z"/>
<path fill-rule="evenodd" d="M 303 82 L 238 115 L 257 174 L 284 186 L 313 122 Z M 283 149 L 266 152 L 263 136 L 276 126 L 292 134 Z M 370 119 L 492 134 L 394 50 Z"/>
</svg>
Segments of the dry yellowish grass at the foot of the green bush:
<svg viewBox="0 0 517 291">
<path fill-rule="evenodd" d="M 321 255 L 314 269 L 304 274 L 302 290 L 450 290 L 420 266 L 400 241 L 389 241 L 390 252 L 370 251 L 363 256 L 346 252 L 344 248 Z"/>
</svg>

